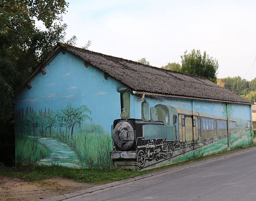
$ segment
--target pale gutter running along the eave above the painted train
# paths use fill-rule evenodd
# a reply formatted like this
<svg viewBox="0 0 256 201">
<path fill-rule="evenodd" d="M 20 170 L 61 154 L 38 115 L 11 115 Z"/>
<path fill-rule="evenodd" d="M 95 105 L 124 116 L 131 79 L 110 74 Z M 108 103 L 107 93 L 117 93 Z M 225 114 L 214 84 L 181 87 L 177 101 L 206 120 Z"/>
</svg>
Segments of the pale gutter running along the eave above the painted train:
<svg viewBox="0 0 256 201">
<path fill-rule="evenodd" d="M 208 98 L 195 98 L 195 97 L 187 97 L 187 96 L 155 94 L 155 93 L 150 93 L 150 92 L 133 91 L 133 94 L 142 94 L 143 98 L 145 97 L 145 95 L 147 95 L 147 96 L 162 96 L 162 97 L 167 97 L 167 98 L 182 98 L 182 99 L 193 99 L 193 100 L 205 100 L 205 101 L 220 102 L 220 103 L 237 103 L 237 104 L 253 105 L 253 103 L 243 103 L 243 102 L 237 102 L 237 101 L 216 100 L 216 99 L 208 99 Z M 143 100 L 143 98 L 137 98 L 137 101 Z"/>
</svg>

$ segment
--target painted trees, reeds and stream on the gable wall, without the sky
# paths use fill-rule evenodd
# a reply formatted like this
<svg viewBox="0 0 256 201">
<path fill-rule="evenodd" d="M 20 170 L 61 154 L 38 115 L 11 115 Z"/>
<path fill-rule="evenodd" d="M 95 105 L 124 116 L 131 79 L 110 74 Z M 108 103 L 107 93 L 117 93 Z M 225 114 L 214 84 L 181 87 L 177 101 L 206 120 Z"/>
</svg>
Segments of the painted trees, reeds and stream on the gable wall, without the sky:
<svg viewBox="0 0 256 201">
<path fill-rule="evenodd" d="M 15 112 L 16 162 L 60 164 L 70 167 L 111 166 L 110 134 L 101 125 L 91 123 L 91 111 L 85 106 L 64 109 L 27 107 Z"/>
</svg>

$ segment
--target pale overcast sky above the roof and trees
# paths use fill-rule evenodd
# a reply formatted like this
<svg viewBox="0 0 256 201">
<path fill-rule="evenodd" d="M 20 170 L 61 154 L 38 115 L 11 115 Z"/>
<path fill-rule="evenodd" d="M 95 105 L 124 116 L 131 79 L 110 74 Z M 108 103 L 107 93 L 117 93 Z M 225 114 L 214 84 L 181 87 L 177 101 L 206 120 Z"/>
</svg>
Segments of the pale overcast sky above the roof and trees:
<svg viewBox="0 0 256 201">
<path fill-rule="evenodd" d="M 218 59 L 218 78 L 256 77 L 255 0 L 67 1 L 63 22 L 77 47 L 92 41 L 89 50 L 156 67 L 200 49 Z"/>
</svg>

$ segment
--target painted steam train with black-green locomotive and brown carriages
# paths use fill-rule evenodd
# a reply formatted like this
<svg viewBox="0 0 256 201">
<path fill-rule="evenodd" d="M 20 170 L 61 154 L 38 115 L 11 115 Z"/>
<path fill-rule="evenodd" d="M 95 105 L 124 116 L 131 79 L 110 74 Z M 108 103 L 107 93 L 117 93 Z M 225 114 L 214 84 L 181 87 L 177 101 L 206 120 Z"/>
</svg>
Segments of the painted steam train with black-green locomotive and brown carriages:
<svg viewBox="0 0 256 201">
<path fill-rule="evenodd" d="M 158 104 L 150 107 L 142 102 L 142 119 L 131 119 L 129 92 L 121 93 L 121 119 L 112 128 L 115 165 L 145 166 L 146 160 L 171 158 L 175 149 L 189 144 L 227 136 L 227 119 L 214 115 Z M 229 121 L 229 132 L 237 129 L 236 121 Z"/>
</svg>

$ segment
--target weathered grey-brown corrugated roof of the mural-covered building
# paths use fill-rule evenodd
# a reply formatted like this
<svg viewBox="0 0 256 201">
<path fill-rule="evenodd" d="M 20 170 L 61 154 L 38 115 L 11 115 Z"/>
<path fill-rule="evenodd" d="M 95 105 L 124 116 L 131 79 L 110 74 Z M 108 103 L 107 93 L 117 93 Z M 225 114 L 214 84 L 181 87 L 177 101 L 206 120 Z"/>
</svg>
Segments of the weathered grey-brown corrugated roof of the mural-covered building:
<svg viewBox="0 0 256 201">
<path fill-rule="evenodd" d="M 62 43 L 58 45 L 123 82 L 134 91 L 252 104 L 249 100 L 206 78 L 156 68 Z"/>
</svg>

